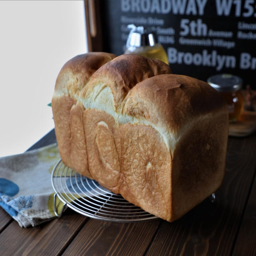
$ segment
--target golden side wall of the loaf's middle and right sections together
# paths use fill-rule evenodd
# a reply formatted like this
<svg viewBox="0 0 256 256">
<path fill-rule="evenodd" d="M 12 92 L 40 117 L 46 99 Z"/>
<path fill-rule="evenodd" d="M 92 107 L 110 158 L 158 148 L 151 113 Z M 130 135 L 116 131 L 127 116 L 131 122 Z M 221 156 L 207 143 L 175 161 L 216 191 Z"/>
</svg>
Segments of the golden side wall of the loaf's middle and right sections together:
<svg viewBox="0 0 256 256">
<path fill-rule="evenodd" d="M 102 110 L 84 110 L 92 178 L 144 210 L 171 218 L 171 155 L 154 128 L 118 124 Z"/>
</svg>

